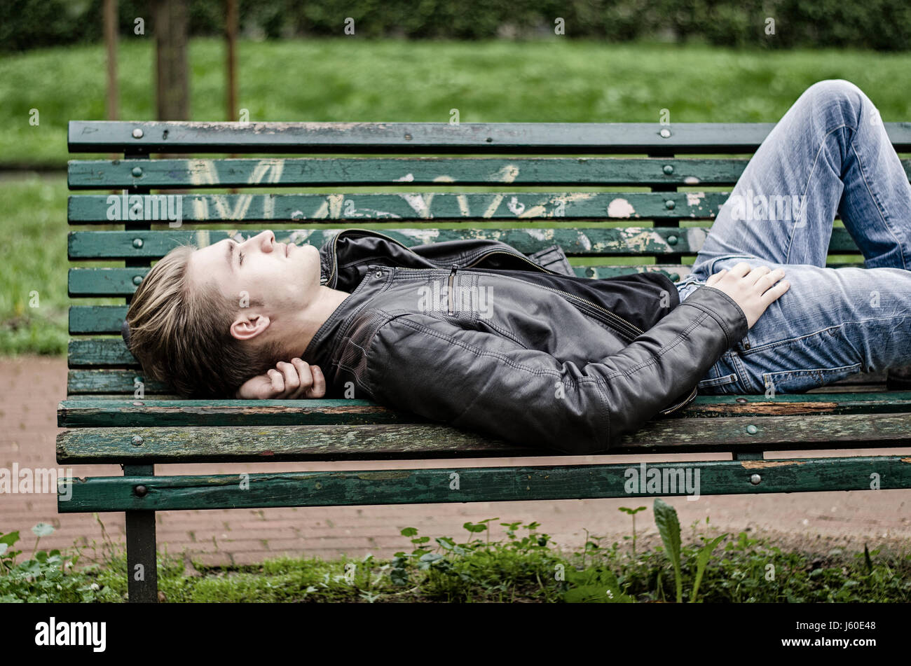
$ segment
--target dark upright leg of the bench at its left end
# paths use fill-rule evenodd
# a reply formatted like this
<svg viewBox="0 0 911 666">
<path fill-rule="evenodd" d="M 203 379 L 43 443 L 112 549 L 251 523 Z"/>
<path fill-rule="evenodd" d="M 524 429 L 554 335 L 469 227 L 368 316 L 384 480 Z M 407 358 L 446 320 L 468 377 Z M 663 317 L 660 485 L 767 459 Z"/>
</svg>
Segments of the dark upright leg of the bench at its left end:
<svg viewBox="0 0 911 666">
<path fill-rule="evenodd" d="M 125 476 L 153 476 L 154 465 L 125 465 Z M 130 603 L 158 603 L 155 511 L 127 511 L 127 590 Z"/>
</svg>

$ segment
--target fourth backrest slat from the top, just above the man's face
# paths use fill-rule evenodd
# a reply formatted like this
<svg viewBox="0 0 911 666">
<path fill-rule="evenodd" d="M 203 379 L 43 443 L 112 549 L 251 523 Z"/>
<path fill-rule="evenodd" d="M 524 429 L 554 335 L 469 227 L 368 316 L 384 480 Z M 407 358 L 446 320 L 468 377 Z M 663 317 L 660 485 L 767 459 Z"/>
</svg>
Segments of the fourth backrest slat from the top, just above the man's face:
<svg viewBox="0 0 911 666">
<path fill-rule="evenodd" d="M 355 227 L 356 228 L 356 227 Z M 279 243 L 322 244 L 342 229 L 273 229 Z M 179 245 L 206 247 L 225 238 L 250 237 L 261 229 L 195 229 L 179 231 L 74 231 L 68 234 L 67 252 L 71 259 L 118 259 L 164 257 Z M 705 227 L 528 227 L 528 228 L 395 228 L 381 233 L 406 247 L 446 240 L 487 238 L 503 241 L 519 252 L 531 254 L 558 244 L 568 257 L 660 256 L 696 254 L 709 229 Z M 138 247 L 137 247 L 138 246 Z M 829 241 L 830 253 L 859 252 L 844 228 L 834 228 Z"/>
</svg>

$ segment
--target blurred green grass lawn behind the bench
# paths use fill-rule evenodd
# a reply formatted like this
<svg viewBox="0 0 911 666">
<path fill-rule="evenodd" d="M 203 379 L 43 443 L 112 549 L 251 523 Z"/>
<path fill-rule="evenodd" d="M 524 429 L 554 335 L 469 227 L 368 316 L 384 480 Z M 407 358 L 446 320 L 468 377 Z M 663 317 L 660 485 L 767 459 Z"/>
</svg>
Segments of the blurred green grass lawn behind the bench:
<svg viewBox="0 0 911 666">
<path fill-rule="evenodd" d="M 121 42 L 123 118 L 153 117 L 152 45 L 148 37 Z M 194 40 L 190 65 L 192 118 L 224 118 L 220 40 Z M 666 108 L 671 123 L 774 122 L 824 78 L 855 82 L 886 122 L 911 120 L 911 96 L 896 86 L 911 53 L 339 38 L 244 41 L 239 65 L 240 106 L 251 121 L 444 122 L 457 108 L 462 122 L 647 122 Z M 0 164 L 63 168 L 78 157 L 67 154 L 67 122 L 103 118 L 104 71 L 100 45 L 0 60 Z M 29 125 L 33 108 L 37 126 Z M 66 205 L 62 173 L 0 179 L 0 353 L 66 349 Z"/>
</svg>

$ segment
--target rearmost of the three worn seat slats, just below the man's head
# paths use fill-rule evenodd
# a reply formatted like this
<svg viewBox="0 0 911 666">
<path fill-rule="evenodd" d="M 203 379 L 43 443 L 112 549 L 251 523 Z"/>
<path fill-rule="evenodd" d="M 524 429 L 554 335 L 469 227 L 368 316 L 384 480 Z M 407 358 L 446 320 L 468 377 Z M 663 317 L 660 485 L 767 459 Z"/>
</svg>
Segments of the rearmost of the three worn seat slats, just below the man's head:
<svg viewBox="0 0 911 666">
<path fill-rule="evenodd" d="M 911 391 L 887 393 L 697 396 L 673 419 L 769 417 L 820 414 L 880 414 L 911 411 Z M 57 409 L 59 428 L 144 426 L 286 426 L 422 422 L 412 414 L 371 400 L 64 400 Z M 911 437 L 911 435 L 909 435 Z"/>
</svg>

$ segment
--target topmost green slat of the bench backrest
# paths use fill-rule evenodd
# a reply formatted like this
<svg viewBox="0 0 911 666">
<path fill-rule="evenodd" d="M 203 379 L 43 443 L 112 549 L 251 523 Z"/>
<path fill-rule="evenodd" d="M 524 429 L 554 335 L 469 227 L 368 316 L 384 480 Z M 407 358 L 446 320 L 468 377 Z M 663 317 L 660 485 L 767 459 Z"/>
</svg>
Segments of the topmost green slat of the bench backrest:
<svg viewBox="0 0 911 666">
<path fill-rule="evenodd" d="M 200 123 L 71 120 L 71 153 L 743 153 L 774 123 Z M 911 123 L 884 123 L 896 151 Z M 134 132 L 141 131 L 136 137 Z M 667 136 L 661 136 L 664 130 Z"/>
</svg>

